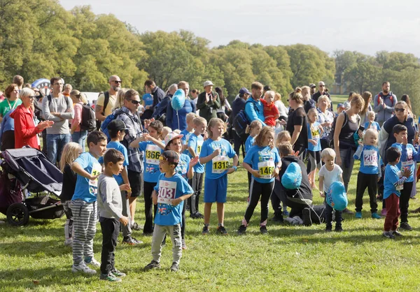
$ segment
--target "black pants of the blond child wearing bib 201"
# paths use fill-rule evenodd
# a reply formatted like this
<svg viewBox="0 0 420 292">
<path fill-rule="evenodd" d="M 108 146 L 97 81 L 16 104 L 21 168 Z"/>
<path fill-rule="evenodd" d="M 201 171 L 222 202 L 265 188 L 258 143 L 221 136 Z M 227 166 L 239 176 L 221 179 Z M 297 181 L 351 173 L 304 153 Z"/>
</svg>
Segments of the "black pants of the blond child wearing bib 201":
<svg viewBox="0 0 420 292">
<path fill-rule="evenodd" d="M 376 213 L 378 204 L 376 200 L 378 175 L 367 175 L 365 173 L 358 173 L 356 186 L 356 212 L 362 211 L 363 194 L 365 189 L 369 193 L 370 212 Z"/>
</svg>

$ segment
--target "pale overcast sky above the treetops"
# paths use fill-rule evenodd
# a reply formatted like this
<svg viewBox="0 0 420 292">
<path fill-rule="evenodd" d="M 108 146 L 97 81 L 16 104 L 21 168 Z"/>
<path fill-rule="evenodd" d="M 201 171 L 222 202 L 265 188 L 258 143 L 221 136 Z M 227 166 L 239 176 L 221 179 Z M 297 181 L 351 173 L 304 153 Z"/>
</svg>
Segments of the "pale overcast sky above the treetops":
<svg viewBox="0 0 420 292">
<path fill-rule="evenodd" d="M 59 0 L 67 10 L 90 5 L 140 32 L 193 31 L 210 46 L 232 40 L 316 45 L 325 52 L 379 50 L 420 57 L 418 0 Z"/>
</svg>

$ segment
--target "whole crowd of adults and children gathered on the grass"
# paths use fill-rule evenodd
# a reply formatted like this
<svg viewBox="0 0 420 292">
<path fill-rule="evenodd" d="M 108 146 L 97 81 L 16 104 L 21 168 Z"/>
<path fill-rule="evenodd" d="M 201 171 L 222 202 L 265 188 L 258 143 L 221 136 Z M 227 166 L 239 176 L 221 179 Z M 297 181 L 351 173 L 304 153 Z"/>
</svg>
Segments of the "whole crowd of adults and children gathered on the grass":
<svg viewBox="0 0 420 292">
<path fill-rule="evenodd" d="M 60 200 L 66 214 L 65 244 L 73 248 L 73 272 L 95 274 L 91 266 L 100 267 L 100 278 L 111 282 L 125 276 L 114 259 L 120 224 L 123 244 L 142 243 L 132 236 L 133 230 L 153 236 L 153 260 L 145 270 L 160 268 L 167 234 L 173 244 L 171 270 L 179 269 L 182 250 L 187 249 L 187 211 L 192 219 L 204 220 L 202 234 L 207 235 L 216 203 L 216 233 L 227 235 L 228 175 L 237 171 L 240 151 L 241 166 L 248 173 L 248 205 L 239 235 L 246 233 L 259 201 L 260 232 L 268 233 L 270 200 L 273 223 L 324 223 L 325 231 L 332 231 L 335 221 L 335 231 L 343 231 L 342 212 L 353 212 L 349 207 L 334 210 L 327 203 L 313 205 L 313 190 L 325 198 L 332 183 L 341 181 L 347 192 L 356 159 L 360 160 L 356 194 L 348 194 L 356 195 L 354 216 L 362 218 L 367 189 L 371 217 L 385 217 L 384 237 L 402 235 L 398 217 L 400 229 L 412 230 L 407 217 L 409 199 L 416 194 L 419 135 L 409 96 L 398 101 L 389 82 L 374 96 L 373 107 L 370 92 L 351 92 L 333 112 L 322 81 L 318 91 L 314 84 L 297 87 L 288 95 L 288 106 L 269 86 L 253 82 L 251 92 L 242 87 L 230 105 L 223 89 L 214 89 L 210 80 L 204 82 L 201 93 L 190 92 L 186 81 L 164 92 L 153 80 L 146 80 L 141 98 L 134 89 L 122 88 L 122 80 L 112 75 L 109 89 L 99 95 L 94 107 L 96 129 L 86 128 L 85 96 L 71 85 L 64 86 L 61 78 L 50 83 L 48 96 L 24 86 L 20 76 L 6 88 L 0 103 L 1 150 L 41 149 L 39 137 L 43 137 L 43 151 L 64 176 Z M 186 100 L 180 110 L 174 110 L 172 96 L 179 89 Z M 245 133 L 235 129 L 241 112 L 247 120 Z M 300 174 L 298 186 L 283 181 L 291 172 Z M 134 220 L 141 193 L 143 227 Z M 200 197 L 204 214 L 199 211 Z M 101 263 L 92 248 L 98 212 Z"/>
</svg>

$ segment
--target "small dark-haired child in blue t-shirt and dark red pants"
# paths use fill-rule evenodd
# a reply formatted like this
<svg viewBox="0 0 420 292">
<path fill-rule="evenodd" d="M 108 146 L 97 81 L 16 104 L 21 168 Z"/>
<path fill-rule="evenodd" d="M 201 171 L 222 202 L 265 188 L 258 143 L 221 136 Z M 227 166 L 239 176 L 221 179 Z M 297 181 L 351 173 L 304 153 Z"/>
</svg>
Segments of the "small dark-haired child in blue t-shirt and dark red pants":
<svg viewBox="0 0 420 292">
<path fill-rule="evenodd" d="M 384 233 L 382 236 L 394 239 L 395 236 L 401 236 L 398 232 L 398 216 L 400 216 L 400 191 L 404 182 L 412 175 L 410 168 L 400 170 L 397 164 L 400 162 L 401 152 L 396 147 L 386 149 L 386 164 L 384 176 L 384 200 L 386 205 L 386 217 L 384 223 Z"/>
</svg>

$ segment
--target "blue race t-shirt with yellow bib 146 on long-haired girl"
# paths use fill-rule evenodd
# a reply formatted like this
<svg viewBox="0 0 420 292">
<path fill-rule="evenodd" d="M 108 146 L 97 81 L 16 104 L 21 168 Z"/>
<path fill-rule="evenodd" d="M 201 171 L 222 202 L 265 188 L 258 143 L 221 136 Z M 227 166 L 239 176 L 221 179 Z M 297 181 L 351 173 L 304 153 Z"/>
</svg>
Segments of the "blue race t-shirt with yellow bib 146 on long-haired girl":
<svg viewBox="0 0 420 292">
<path fill-rule="evenodd" d="M 267 184 L 274 181 L 273 173 L 274 168 L 280 161 L 279 152 L 276 147 L 270 148 L 269 146 L 261 147 L 254 145 L 244 158 L 244 162 L 252 166 L 253 170 L 258 170 L 261 177 L 255 177 L 254 180 L 262 184 Z"/>
</svg>

